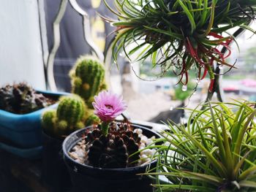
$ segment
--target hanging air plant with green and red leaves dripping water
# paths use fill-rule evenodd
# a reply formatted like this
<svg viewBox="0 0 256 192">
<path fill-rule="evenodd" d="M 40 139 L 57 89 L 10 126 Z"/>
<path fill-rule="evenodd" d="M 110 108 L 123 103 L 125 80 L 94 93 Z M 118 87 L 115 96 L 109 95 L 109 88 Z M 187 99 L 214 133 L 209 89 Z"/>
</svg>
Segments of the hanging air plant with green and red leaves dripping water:
<svg viewBox="0 0 256 192">
<path fill-rule="evenodd" d="M 239 27 L 255 32 L 249 28 L 255 0 L 115 0 L 116 10 L 104 1 L 118 17 L 102 17 L 118 32 L 113 41 L 115 60 L 121 51 L 130 60 L 150 58 L 153 66 L 161 66 L 162 73 L 173 69 L 184 85 L 189 81 L 189 69 L 194 68 L 197 80 L 209 74 L 209 91 L 214 85 L 214 61 L 235 67 L 225 61 L 235 40 L 227 30 Z M 132 43 L 135 46 L 129 46 Z M 223 47 L 227 54 L 221 51 Z"/>
</svg>

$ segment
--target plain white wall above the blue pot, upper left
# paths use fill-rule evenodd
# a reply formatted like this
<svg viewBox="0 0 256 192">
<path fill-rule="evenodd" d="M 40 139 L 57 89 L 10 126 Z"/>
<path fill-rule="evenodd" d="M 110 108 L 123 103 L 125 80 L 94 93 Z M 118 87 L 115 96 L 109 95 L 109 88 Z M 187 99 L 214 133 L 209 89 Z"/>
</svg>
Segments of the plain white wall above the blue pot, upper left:
<svg viewBox="0 0 256 192">
<path fill-rule="evenodd" d="M 26 81 L 45 89 L 36 0 L 0 0 L 0 86 Z"/>
</svg>

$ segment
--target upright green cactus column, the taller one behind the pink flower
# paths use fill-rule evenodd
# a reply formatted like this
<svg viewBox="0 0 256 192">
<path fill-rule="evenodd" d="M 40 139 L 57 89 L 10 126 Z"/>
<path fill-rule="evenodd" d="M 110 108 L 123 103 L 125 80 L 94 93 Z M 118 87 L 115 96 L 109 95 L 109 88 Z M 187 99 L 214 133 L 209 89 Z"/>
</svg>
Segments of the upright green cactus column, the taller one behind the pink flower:
<svg viewBox="0 0 256 192">
<path fill-rule="evenodd" d="M 97 58 L 82 56 L 69 76 L 72 80 L 72 93 L 81 96 L 88 107 L 92 108 L 91 102 L 94 101 L 94 96 L 106 88 L 104 66 Z"/>
</svg>

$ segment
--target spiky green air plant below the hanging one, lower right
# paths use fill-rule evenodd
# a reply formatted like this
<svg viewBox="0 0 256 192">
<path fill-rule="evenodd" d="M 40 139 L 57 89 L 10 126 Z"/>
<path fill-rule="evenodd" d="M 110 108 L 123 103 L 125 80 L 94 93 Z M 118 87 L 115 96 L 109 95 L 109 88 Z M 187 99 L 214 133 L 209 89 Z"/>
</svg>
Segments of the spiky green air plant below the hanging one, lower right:
<svg viewBox="0 0 256 192">
<path fill-rule="evenodd" d="M 158 191 L 255 191 L 255 103 L 212 103 L 162 134 Z M 159 152 L 159 153 L 161 153 Z M 167 180 L 167 181 L 166 181 Z"/>
</svg>

